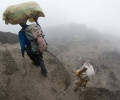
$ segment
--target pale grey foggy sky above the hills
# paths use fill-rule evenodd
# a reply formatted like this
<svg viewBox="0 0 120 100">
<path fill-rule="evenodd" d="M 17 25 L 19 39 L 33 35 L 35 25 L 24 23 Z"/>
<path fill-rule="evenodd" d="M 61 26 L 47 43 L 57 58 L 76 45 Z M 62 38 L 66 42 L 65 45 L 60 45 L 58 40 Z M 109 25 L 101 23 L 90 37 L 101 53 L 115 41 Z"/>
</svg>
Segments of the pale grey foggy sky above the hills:
<svg viewBox="0 0 120 100">
<path fill-rule="evenodd" d="M 6 25 L 5 9 L 31 0 L 1 0 L 0 31 L 18 33 L 19 25 Z M 39 18 L 42 28 L 76 22 L 103 33 L 120 34 L 120 0 L 32 0 L 39 3 L 45 18 Z"/>
</svg>

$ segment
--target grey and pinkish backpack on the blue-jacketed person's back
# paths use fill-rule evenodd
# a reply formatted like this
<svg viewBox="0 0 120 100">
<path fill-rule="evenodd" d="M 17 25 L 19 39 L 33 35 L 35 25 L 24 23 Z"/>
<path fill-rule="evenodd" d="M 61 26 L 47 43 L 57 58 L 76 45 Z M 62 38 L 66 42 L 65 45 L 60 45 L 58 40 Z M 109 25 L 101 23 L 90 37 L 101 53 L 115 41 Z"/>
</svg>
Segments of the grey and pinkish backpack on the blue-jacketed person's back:
<svg viewBox="0 0 120 100">
<path fill-rule="evenodd" d="M 32 31 L 34 29 L 34 31 Z M 26 37 L 30 41 L 31 49 L 38 54 L 47 49 L 47 43 L 42 35 L 41 28 L 36 24 L 29 25 L 25 30 Z"/>
</svg>

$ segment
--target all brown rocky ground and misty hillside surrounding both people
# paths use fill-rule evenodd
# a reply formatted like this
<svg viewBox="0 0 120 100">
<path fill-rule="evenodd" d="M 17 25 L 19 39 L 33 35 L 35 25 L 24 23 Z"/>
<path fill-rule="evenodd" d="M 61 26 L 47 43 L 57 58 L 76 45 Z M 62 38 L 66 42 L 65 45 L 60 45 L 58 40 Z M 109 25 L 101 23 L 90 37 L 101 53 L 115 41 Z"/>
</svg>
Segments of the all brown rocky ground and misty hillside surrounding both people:
<svg viewBox="0 0 120 100">
<path fill-rule="evenodd" d="M 120 100 L 120 37 L 75 23 L 44 32 L 48 77 L 27 55 L 22 58 L 19 44 L 0 43 L 0 100 Z M 75 71 L 85 61 L 96 75 L 74 92 Z"/>
</svg>

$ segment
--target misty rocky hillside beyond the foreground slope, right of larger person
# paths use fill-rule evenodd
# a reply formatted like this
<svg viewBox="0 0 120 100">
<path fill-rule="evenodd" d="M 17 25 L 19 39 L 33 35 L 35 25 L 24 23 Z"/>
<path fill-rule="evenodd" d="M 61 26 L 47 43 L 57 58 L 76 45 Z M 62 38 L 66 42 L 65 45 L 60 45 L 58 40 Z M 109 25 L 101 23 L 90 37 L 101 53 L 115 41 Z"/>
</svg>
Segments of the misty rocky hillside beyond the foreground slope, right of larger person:
<svg viewBox="0 0 120 100">
<path fill-rule="evenodd" d="M 52 28 L 46 34 L 49 51 L 63 63 L 72 79 L 75 76 L 71 73 L 88 61 L 96 73 L 88 86 L 120 90 L 120 36 L 102 34 L 74 23 Z"/>
</svg>

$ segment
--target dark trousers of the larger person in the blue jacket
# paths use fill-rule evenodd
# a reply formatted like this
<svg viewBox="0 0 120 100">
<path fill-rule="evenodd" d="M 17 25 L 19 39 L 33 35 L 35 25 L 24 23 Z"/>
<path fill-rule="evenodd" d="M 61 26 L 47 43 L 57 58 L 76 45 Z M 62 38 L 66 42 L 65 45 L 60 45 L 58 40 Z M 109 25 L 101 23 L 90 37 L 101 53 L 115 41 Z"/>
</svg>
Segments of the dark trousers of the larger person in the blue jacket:
<svg viewBox="0 0 120 100">
<path fill-rule="evenodd" d="M 43 56 L 42 53 L 39 54 L 28 54 L 29 58 L 34 62 L 35 65 L 40 66 L 41 67 L 41 71 L 43 74 L 47 73 L 47 70 L 45 68 L 45 64 L 44 64 L 44 60 L 43 60 Z"/>
</svg>

